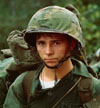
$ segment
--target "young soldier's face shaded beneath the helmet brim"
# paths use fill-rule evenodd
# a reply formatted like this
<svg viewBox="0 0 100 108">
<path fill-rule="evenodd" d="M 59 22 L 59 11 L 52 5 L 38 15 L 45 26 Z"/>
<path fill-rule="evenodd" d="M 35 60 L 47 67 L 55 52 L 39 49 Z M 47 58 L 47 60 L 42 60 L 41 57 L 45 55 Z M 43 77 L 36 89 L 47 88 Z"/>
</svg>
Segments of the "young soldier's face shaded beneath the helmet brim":
<svg viewBox="0 0 100 108">
<path fill-rule="evenodd" d="M 69 42 L 64 35 L 41 34 L 36 38 L 36 47 L 46 65 L 56 66 L 66 55 L 70 54 Z"/>
</svg>

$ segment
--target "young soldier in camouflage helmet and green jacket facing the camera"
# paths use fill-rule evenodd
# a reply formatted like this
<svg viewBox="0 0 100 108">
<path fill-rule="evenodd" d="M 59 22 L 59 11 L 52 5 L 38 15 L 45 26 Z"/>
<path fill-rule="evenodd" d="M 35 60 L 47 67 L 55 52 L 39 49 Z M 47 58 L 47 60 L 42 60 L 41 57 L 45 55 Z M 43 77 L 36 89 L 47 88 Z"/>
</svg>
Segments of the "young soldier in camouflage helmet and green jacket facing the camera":
<svg viewBox="0 0 100 108">
<path fill-rule="evenodd" d="M 29 22 L 25 41 L 42 63 L 16 79 L 4 108 L 84 108 L 100 94 L 100 81 L 86 66 L 82 31 L 73 12 L 58 6 L 39 10 Z"/>
</svg>

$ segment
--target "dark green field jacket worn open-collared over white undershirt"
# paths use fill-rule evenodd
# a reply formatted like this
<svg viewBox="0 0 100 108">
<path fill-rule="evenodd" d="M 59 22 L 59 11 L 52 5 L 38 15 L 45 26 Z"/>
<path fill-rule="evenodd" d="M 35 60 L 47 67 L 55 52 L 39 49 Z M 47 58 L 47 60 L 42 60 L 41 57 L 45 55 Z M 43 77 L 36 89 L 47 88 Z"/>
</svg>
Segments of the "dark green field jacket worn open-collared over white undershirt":
<svg viewBox="0 0 100 108">
<path fill-rule="evenodd" d="M 72 90 L 71 88 L 80 76 L 90 78 L 90 74 L 82 62 L 77 60 L 72 62 L 74 69 L 53 88 L 45 90 L 41 89 L 39 81 L 39 75 L 43 68 L 40 66 L 33 76 L 28 103 L 25 94 L 26 88 L 23 86 L 24 78 L 28 72 L 21 74 L 10 86 L 3 108 L 84 108 L 78 93 L 78 87 L 75 86 Z M 58 102 L 69 90 L 70 92 Z M 95 95 L 100 95 L 100 81 L 93 78 L 92 97 Z"/>
</svg>

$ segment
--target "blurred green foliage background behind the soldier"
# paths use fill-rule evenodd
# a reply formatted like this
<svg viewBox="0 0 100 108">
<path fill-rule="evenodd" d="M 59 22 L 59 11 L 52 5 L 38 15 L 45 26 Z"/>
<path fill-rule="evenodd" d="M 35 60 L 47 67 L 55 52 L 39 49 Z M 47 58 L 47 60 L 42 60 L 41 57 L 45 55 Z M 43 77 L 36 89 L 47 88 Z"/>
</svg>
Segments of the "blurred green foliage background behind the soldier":
<svg viewBox="0 0 100 108">
<path fill-rule="evenodd" d="M 100 48 L 99 0 L 0 0 L 0 49 L 8 48 L 7 37 L 12 30 L 23 30 L 32 15 L 48 5 L 65 7 L 74 5 L 80 12 L 80 20 L 87 54 Z"/>
</svg>

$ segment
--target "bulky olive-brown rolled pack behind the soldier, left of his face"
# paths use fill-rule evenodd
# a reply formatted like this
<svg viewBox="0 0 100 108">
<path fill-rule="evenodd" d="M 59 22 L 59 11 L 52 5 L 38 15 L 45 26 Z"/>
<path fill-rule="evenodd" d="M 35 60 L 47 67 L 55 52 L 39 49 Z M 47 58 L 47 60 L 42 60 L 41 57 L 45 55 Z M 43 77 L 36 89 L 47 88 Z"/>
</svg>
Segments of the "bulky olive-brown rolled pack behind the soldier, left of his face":
<svg viewBox="0 0 100 108">
<path fill-rule="evenodd" d="M 8 36 L 8 44 L 12 51 L 12 56 L 17 64 L 33 65 L 38 63 L 37 56 L 31 52 L 27 46 L 27 43 L 23 39 L 24 31 L 12 31 Z M 32 55 L 34 54 L 34 55 Z"/>
</svg>

